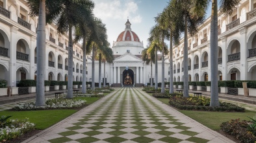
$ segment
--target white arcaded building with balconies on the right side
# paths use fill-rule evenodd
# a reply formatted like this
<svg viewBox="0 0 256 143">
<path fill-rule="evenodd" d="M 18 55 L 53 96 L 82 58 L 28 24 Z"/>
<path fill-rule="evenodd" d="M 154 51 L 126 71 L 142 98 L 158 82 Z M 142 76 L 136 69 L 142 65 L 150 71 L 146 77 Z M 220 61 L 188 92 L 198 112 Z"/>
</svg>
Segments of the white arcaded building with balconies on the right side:
<svg viewBox="0 0 256 143">
<path fill-rule="evenodd" d="M 256 1 L 242 0 L 232 16 L 218 14 L 218 80 L 256 80 Z M 207 19 L 188 36 L 189 81 L 211 79 L 210 31 Z M 184 40 L 173 47 L 173 79 L 183 82 Z"/>
</svg>

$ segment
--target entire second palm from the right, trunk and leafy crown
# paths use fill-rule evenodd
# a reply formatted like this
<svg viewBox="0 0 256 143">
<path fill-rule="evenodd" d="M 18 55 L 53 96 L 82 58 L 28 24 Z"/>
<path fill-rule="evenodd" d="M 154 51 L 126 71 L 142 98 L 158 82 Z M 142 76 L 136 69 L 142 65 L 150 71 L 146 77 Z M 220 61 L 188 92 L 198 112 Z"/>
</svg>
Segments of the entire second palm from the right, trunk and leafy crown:
<svg viewBox="0 0 256 143">
<path fill-rule="evenodd" d="M 176 6 L 175 17 L 177 21 L 183 21 L 179 27 L 184 27 L 184 92 L 188 97 L 188 33 L 193 36 L 198 32 L 198 26 L 203 23 L 207 10 L 207 0 L 173 0 Z"/>
</svg>

